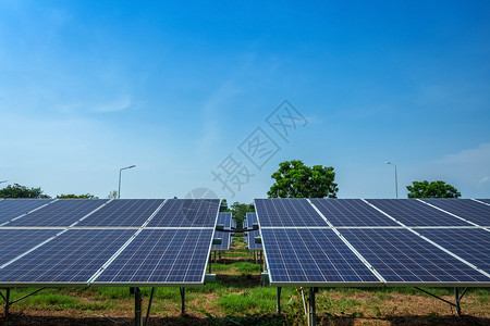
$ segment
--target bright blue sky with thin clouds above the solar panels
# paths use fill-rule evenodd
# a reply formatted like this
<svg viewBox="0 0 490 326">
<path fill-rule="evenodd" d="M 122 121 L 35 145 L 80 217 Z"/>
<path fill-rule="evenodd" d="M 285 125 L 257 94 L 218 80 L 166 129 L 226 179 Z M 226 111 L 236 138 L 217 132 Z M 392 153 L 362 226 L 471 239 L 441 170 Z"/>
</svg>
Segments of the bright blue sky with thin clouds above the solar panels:
<svg viewBox="0 0 490 326">
<path fill-rule="evenodd" d="M 333 166 L 340 198 L 393 198 L 390 160 L 402 198 L 424 179 L 489 198 L 489 15 L 488 1 L 0 0 L 0 180 L 105 198 L 136 164 L 122 198 L 249 202 L 296 159 Z M 266 121 L 284 99 L 305 118 L 286 140 Z M 258 127 L 277 149 L 260 168 L 240 150 Z M 229 179 L 234 197 L 211 173 L 226 158 L 249 175 Z"/>
</svg>

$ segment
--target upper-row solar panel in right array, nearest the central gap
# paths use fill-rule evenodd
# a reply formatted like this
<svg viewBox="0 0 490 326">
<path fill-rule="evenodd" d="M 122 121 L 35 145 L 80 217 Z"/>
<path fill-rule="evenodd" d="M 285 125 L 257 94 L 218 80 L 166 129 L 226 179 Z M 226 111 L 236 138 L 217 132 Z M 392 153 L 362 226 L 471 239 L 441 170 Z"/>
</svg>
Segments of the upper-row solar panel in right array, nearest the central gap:
<svg viewBox="0 0 490 326">
<path fill-rule="evenodd" d="M 255 208 L 261 227 L 324 226 L 327 222 L 303 198 L 256 199 Z"/>
</svg>

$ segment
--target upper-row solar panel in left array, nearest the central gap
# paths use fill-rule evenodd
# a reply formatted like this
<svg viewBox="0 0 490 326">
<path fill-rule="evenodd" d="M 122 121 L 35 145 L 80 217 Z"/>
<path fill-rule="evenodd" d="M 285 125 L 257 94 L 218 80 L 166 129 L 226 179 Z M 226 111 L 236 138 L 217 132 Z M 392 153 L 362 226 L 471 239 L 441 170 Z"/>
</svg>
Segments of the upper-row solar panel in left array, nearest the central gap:
<svg viewBox="0 0 490 326">
<path fill-rule="evenodd" d="M 215 227 L 219 199 L 169 199 L 148 227 Z"/>
</svg>

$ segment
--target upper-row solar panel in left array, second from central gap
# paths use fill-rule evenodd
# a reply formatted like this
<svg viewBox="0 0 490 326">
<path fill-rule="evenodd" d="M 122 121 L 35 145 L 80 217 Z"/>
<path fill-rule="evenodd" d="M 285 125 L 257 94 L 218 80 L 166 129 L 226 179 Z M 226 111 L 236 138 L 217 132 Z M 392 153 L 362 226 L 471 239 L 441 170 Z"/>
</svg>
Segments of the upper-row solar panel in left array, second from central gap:
<svg viewBox="0 0 490 326">
<path fill-rule="evenodd" d="M 142 226 L 163 199 L 114 199 L 76 226 Z"/>
</svg>

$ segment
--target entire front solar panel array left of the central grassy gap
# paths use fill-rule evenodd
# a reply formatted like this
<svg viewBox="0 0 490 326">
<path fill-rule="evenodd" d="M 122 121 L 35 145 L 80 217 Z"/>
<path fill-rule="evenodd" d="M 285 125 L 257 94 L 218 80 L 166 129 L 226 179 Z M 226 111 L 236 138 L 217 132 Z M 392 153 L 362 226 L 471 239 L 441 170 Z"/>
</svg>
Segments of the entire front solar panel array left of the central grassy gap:
<svg viewBox="0 0 490 326">
<path fill-rule="evenodd" d="M 203 285 L 219 204 L 2 200 L 0 287 Z"/>
</svg>

